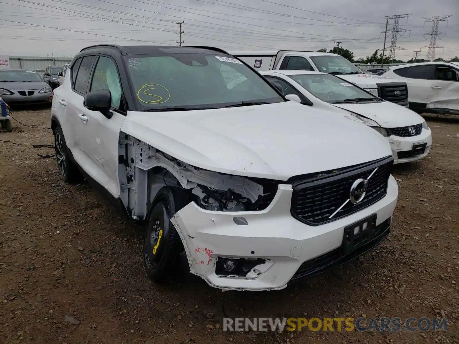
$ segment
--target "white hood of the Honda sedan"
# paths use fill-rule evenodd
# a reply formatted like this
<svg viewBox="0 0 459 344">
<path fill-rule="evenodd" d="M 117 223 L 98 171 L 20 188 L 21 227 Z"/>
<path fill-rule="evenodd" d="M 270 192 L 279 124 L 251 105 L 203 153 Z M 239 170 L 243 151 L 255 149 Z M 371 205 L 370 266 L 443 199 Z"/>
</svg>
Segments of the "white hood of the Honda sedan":
<svg viewBox="0 0 459 344">
<path fill-rule="evenodd" d="M 349 110 L 368 117 L 383 128 L 408 127 L 424 122 L 424 118 L 416 112 L 390 101 L 368 104 L 333 104 L 341 109 Z"/>
</svg>

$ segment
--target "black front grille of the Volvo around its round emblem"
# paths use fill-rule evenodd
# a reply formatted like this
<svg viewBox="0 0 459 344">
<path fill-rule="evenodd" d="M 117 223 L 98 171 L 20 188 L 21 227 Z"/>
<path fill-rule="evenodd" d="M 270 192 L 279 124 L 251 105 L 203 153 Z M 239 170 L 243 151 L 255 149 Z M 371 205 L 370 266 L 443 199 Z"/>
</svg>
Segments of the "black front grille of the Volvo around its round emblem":
<svg viewBox="0 0 459 344">
<path fill-rule="evenodd" d="M 297 181 L 293 184 L 292 216 L 308 225 L 318 226 L 374 204 L 386 195 L 392 164 L 393 159 L 390 156 L 378 161 L 351 166 L 338 172 L 325 172 L 321 176 Z M 368 180 L 364 199 L 358 204 L 353 204 L 349 200 L 353 183 L 359 178 L 367 179 L 373 171 L 375 172 Z M 346 201 L 348 201 L 346 205 L 330 219 L 330 216 Z"/>
</svg>

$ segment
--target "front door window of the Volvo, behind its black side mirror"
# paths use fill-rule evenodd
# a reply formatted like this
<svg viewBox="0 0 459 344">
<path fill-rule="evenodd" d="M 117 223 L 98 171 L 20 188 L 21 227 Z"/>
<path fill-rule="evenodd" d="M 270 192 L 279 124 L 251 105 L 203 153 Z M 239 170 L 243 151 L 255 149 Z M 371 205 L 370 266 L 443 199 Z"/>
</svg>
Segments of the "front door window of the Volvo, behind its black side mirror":
<svg viewBox="0 0 459 344">
<path fill-rule="evenodd" d="M 101 56 L 95 66 L 94 76 L 91 82 L 90 91 L 108 89 L 112 94 L 112 107 L 120 109 L 121 105 L 121 83 L 115 62 L 108 57 Z"/>
</svg>

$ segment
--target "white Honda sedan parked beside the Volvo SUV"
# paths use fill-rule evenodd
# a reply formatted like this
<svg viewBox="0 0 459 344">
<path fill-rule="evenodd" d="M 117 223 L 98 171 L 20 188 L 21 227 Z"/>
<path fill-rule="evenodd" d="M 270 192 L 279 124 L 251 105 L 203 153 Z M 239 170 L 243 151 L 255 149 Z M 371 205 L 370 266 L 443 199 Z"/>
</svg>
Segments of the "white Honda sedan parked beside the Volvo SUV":
<svg viewBox="0 0 459 344">
<path fill-rule="evenodd" d="M 386 137 L 396 164 L 418 160 L 429 153 L 431 130 L 424 118 L 406 107 L 378 98 L 326 73 L 283 70 L 260 74 L 282 94 L 297 94 L 304 105 L 326 110 L 331 108 L 331 111 L 340 108 L 358 115 L 368 126 Z M 360 139 L 358 142 L 364 144 Z"/>
</svg>

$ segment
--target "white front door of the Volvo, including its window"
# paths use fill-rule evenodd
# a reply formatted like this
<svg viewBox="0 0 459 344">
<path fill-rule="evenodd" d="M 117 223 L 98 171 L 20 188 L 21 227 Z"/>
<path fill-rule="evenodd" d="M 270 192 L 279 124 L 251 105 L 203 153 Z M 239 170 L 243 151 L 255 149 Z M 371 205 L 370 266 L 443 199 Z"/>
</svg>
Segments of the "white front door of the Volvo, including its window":
<svg viewBox="0 0 459 344">
<path fill-rule="evenodd" d="M 97 57 L 88 92 L 102 89 L 108 89 L 112 94 L 112 118 L 82 106 L 80 111 L 86 121 L 81 132 L 82 146 L 89 159 L 91 176 L 114 197 L 118 197 L 118 140 L 126 118 L 126 106 L 117 64 L 111 57 L 103 55 Z"/>
</svg>

